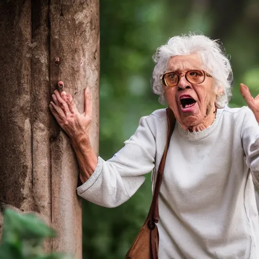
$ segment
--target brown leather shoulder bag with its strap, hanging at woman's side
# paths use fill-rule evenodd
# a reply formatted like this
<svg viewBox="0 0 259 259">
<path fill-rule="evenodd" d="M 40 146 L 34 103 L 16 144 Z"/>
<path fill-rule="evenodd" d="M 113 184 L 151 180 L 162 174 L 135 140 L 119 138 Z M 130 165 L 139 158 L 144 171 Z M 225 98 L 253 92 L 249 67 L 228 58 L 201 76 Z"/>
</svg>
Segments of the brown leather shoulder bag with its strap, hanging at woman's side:
<svg viewBox="0 0 259 259">
<path fill-rule="evenodd" d="M 159 234 L 156 223 L 159 221 L 158 195 L 162 183 L 165 158 L 169 147 L 170 139 L 176 124 L 176 118 L 170 108 L 166 109 L 167 115 L 167 139 L 162 155 L 155 184 L 152 203 L 148 212 L 148 217 L 137 235 L 132 247 L 126 254 L 126 259 L 158 259 Z"/>
</svg>

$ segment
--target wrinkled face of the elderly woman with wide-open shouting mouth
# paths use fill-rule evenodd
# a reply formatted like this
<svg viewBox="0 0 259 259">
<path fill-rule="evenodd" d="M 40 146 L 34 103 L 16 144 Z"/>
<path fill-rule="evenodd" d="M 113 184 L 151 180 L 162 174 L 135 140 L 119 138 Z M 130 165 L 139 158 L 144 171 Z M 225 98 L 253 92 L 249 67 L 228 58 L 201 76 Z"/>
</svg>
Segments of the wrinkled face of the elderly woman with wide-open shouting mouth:
<svg viewBox="0 0 259 259">
<path fill-rule="evenodd" d="M 180 74 L 180 81 L 175 87 L 163 87 L 168 106 L 174 111 L 178 122 L 185 128 L 196 126 L 215 111 L 213 78 L 206 76 L 199 84 L 188 82 L 184 74 L 188 70 L 204 70 L 199 54 L 171 57 L 166 72 Z"/>
</svg>

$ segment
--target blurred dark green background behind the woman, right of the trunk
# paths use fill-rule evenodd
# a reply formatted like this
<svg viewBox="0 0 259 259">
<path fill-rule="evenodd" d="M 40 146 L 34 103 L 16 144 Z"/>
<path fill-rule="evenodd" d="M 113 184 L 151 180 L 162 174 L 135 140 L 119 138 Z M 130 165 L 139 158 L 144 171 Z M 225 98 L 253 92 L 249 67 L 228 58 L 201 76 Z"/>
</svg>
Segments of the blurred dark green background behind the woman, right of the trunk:
<svg viewBox="0 0 259 259">
<path fill-rule="evenodd" d="M 100 0 L 100 156 L 109 159 L 140 117 L 163 108 L 150 86 L 156 48 L 171 36 L 201 31 L 221 39 L 234 72 L 230 107 L 246 105 L 239 83 L 259 93 L 258 0 Z M 125 204 L 103 208 L 83 201 L 83 258 L 124 258 L 144 223 L 151 177 Z"/>
</svg>

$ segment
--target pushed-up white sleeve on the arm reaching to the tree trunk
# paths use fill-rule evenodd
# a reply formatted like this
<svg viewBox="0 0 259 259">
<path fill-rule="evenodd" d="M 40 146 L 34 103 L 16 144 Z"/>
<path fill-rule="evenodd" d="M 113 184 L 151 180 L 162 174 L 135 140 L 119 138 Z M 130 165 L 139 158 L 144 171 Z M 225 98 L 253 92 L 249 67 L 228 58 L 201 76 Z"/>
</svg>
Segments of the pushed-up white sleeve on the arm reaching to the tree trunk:
<svg viewBox="0 0 259 259">
<path fill-rule="evenodd" d="M 93 175 L 77 188 L 79 196 L 104 207 L 119 206 L 133 196 L 145 181 L 143 175 L 154 167 L 156 145 L 151 116 L 140 119 L 135 134 L 111 159 L 98 157 Z"/>
</svg>

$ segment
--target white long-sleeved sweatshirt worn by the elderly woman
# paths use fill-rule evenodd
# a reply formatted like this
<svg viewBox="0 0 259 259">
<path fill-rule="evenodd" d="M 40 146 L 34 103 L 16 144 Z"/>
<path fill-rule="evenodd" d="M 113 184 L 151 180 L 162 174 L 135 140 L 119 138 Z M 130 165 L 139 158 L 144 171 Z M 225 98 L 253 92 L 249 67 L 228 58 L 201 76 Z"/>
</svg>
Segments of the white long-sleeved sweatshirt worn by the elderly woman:
<svg viewBox="0 0 259 259">
<path fill-rule="evenodd" d="M 142 117 L 111 159 L 98 158 L 77 193 L 105 207 L 130 199 L 157 170 L 167 131 L 165 109 Z M 217 111 L 211 126 L 172 134 L 159 194 L 159 259 L 258 259 L 259 126 L 247 107 Z"/>
</svg>

